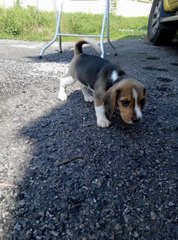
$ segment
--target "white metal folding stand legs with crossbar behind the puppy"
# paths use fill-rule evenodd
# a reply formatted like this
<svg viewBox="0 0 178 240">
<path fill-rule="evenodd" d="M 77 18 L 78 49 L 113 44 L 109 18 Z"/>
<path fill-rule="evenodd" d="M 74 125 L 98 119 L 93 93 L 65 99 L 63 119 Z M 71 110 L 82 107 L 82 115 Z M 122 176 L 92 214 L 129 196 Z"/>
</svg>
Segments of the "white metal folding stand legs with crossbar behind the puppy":
<svg viewBox="0 0 178 240">
<path fill-rule="evenodd" d="M 72 0 L 72 1 L 75 1 L 75 0 Z M 104 57 L 103 42 L 104 42 L 104 38 L 107 38 L 108 43 L 110 44 L 110 46 L 115 51 L 115 55 L 117 55 L 117 51 L 110 41 L 110 29 L 109 29 L 109 13 L 110 13 L 109 4 L 110 4 L 110 0 L 105 0 L 105 1 L 106 1 L 106 3 L 105 3 L 105 9 L 104 9 L 104 15 L 103 15 L 103 21 L 102 21 L 100 34 L 98 34 L 98 35 L 85 35 L 85 34 L 73 34 L 73 33 L 62 33 L 61 32 L 60 24 L 61 24 L 61 15 L 62 15 L 64 0 L 59 1 L 60 2 L 59 3 L 59 10 L 57 9 L 57 6 L 56 6 L 56 0 L 53 0 L 55 12 L 56 12 L 56 31 L 55 31 L 55 35 L 54 35 L 53 39 L 42 48 L 42 50 L 40 52 L 40 55 L 39 55 L 39 58 L 42 58 L 45 50 L 48 47 L 50 47 L 56 41 L 57 37 L 59 37 L 59 49 L 60 49 L 60 52 L 62 52 L 62 38 L 61 38 L 62 36 L 99 38 L 100 39 L 100 48 L 101 48 L 101 57 L 102 58 Z M 106 36 L 105 36 L 105 30 L 106 30 Z"/>
</svg>

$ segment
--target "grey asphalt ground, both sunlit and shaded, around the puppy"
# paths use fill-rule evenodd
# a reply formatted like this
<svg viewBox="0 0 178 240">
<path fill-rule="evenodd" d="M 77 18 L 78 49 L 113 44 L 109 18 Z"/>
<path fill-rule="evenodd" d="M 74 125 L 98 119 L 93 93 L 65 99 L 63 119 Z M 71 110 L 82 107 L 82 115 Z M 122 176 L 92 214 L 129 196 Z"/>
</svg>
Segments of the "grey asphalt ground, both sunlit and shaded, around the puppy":
<svg viewBox="0 0 178 240">
<path fill-rule="evenodd" d="M 178 239 L 178 44 L 113 44 L 148 101 L 102 129 L 78 84 L 57 99 L 74 43 L 0 40 L 0 239 Z"/>
</svg>

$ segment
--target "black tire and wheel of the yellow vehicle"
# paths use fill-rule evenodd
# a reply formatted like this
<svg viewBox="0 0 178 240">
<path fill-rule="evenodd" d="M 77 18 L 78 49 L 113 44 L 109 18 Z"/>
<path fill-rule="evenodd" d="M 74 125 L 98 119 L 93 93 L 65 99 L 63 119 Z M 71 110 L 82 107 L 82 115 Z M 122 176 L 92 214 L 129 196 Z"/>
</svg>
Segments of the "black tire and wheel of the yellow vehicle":
<svg viewBox="0 0 178 240">
<path fill-rule="evenodd" d="M 163 1 L 154 0 L 149 15 L 147 34 L 148 40 L 153 45 L 168 45 L 175 37 L 177 27 L 170 23 L 163 24 L 160 22 L 161 18 L 168 16 L 171 16 L 171 14 L 164 11 Z"/>
</svg>

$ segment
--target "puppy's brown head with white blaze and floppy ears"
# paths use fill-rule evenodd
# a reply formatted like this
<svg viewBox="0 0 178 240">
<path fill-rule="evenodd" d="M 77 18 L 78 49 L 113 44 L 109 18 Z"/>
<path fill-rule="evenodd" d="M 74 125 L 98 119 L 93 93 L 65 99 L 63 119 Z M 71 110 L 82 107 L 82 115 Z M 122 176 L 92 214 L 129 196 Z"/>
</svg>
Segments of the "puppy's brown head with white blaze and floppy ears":
<svg viewBox="0 0 178 240">
<path fill-rule="evenodd" d="M 119 108 L 124 122 L 131 124 L 142 119 L 146 88 L 135 79 L 124 79 L 113 85 L 105 94 L 105 108 L 109 114 Z"/>
</svg>

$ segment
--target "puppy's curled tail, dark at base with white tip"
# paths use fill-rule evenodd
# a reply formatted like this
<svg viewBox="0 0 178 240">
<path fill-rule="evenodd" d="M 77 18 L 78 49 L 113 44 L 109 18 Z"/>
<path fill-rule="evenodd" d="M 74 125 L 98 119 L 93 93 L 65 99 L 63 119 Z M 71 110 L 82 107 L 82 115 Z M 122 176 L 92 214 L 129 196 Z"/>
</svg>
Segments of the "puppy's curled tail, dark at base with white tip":
<svg viewBox="0 0 178 240">
<path fill-rule="evenodd" d="M 91 39 L 83 39 L 83 40 L 78 41 L 75 44 L 75 49 L 74 49 L 75 56 L 83 53 L 83 51 L 82 51 L 83 44 L 89 44 L 91 47 L 93 47 L 97 51 L 97 53 L 99 53 L 101 55 L 100 46 L 98 45 L 98 43 L 96 41 L 91 40 Z"/>
</svg>

